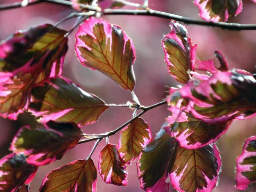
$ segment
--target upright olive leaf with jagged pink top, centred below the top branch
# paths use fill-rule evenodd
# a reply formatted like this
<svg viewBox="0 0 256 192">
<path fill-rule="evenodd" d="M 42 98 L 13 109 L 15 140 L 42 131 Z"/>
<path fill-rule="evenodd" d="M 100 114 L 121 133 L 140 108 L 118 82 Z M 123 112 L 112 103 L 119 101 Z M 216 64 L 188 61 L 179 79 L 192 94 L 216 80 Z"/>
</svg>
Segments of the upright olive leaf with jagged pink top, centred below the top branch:
<svg viewBox="0 0 256 192">
<path fill-rule="evenodd" d="M 112 78 L 124 89 L 133 90 L 133 63 L 136 52 L 132 40 L 117 25 L 90 17 L 75 35 L 80 62 Z"/>
</svg>

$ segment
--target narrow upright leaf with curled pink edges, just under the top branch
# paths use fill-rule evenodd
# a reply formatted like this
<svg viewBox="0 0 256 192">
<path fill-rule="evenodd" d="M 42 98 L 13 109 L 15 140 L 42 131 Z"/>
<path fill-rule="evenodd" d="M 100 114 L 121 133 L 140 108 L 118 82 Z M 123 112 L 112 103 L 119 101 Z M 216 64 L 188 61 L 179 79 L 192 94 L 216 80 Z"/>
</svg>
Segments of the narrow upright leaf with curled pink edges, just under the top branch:
<svg viewBox="0 0 256 192">
<path fill-rule="evenodd" d="M 195 70 L 197 45 L 192 45 L 187 28 L 174 20 L 170 22 L 171 32 L 162 39 L 165 61 L 170 75 L 186 84 L 189 72 Z"/>
</svg>

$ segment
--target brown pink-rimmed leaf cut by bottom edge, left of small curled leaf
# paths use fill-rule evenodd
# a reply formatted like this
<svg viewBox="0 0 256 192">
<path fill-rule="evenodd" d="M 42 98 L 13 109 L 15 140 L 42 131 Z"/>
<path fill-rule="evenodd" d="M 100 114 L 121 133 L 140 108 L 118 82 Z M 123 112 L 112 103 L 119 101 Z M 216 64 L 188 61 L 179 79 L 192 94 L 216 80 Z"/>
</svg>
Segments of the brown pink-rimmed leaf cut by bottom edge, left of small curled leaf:
<svg viewBox="0 0 256 192">
<path fill-rule="evenodd" d="M 97 169 L 93 160 L 77 160 L 48 173 L 40 192 L 96 192 Z"/>
</svg>

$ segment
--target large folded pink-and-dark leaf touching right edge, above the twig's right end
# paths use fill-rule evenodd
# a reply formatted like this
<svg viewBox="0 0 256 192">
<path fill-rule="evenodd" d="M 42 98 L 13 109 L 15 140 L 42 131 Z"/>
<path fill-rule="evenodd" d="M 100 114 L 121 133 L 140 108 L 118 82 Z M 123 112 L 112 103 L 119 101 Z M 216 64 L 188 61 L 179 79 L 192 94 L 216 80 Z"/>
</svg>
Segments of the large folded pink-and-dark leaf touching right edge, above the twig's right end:
<svg viewBox="0 0 256 192">
<path fill-rule="evenodd" d="M 190 99 L 191 113 L 208 123 L 246 119 L 256 115 L 256 80 L 242 70 L 216 72 L 207 81 L 190 82 L 181 90 Z"/>
</svg>

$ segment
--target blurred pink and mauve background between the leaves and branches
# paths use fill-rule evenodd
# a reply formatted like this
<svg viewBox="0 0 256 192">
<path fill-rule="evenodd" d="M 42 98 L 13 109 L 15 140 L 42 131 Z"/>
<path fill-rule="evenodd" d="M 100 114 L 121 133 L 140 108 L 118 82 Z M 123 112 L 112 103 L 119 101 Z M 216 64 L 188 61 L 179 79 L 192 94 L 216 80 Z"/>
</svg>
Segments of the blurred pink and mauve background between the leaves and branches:
<svg viewBox="0 0 256 192">
<path fill-rule="evenodd" d="M 105 0 L 108 1 L 108 0 Z M 131 0 L 132 1 L 132 0 Z M 13 0 L 1 0 L 0 4 L 15 2 Z M 143 3 L 143 0 L 133 0 Z M 198 9 L 192 0 L 149 0 L 150 8 L 178 14 L 190 18 L 198 18 Z M 251 0 L 243 0 L 243 11 L 229 22 L 250 24 L 256 23 L 256 4 Z M 133 9 L 131 7 L 124 7 Z M 43 23 L 55 24 L 74 10 L 67 6 L 51 3 L 39 3 L 25 8 L 0 11 L 0 40 L 7 38 L 16 30 L 28 29 L 33 25 Z M 164 53 L 161 47 L 163 34 L 170 31 L 169 20 L 149 16 L 103 16 L 110 23 L 117 24 L 126 31 L 133 40 L 137 51 L 137 60 L 134 64 L 136 74 L 135 92 L 143 105 L 151 105 L 162 101 L 166 97 L 167 86 L 176 86 L 176 82 L 169 75 L 164 61 Z M 59 27 L 69 29 L 75 23 L 71 19 Z M 69 35 L 69 50 L 66 55 L 63 75 L 79 84 L 85 91 L 93 93 L 103 99 L 106 103 L 126 103 L 131 100 L 129 91 L 123 90 L 109 77 L 98 71 L 92 71 L 83 67 L 74 55 L 74 30 Z M 219 49 L 229 61 L 230 68 L 240 68 L 255 73 L 256 64 L 256 32 L 255 31 L 229 31 L 213 27 L 202 27 L 196 25 L 188 26 L 189 36 L 193 44 L 197 43 L 197 57 L 201 60 L 212 58 L 214 50 Z M 150 124 L 152 133 L 155 134 L 165 122 L 169 112 L 167 106 L 160 106 L 145 113 L 142 118 Z M 132 117 L 128 108 L 110 107 L 92 125 L 83 127 L 85 133 L 104 133 L 114 130 Z M 0 118 L 0 158 L 10 153 L 8 150 L 10 142 L 18 128 L 24 124 L 36 122 L 29 114 L 19 115 L 17 121 Z M 235 121 L 228 132 L 217 142 L 222 156 L 222 173 L 219 175 L 219 186 L 215 192 L 236 191 L 235 165 L 236 157 L 241 154 L 243 143 L 247 137 L 256 135 L 256 118 L 250 120 Z M 110 143 L 117 144 L 118 134 L 110 137 Z M 31 183 L 31 191 L 39 190 L 44 176 L 53 169 L 70 163 L 77 159 L 85 159 L 90 152 L 93 142 L 78 145 L 68 151 L 62 160 L 39 167 L 38 172 Z M 92 158 L 95 165 L 98 164 L 98 155 L 104 147 L 102 141 L 94 152 Z M 97 189 L 99 192 L 141 192 L 137 178 L 136 163 L 133 162 L 128 168 L 127 187 L 117 187 L 112 184 L 104 184 L 98 175 Z M 173 190 L 174 191 L 174 190 Z M 249 191 L 256 191 L 256 185 L 251 184 Z"/>
</svg>

